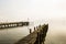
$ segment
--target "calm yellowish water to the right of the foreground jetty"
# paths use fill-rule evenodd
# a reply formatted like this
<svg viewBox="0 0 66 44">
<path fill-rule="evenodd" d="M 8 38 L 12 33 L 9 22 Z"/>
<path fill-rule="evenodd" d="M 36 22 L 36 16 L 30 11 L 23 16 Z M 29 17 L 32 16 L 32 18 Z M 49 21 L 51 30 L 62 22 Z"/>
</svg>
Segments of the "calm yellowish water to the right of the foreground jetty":
<svg viewBox="0 0 66 44">
<path fill-rule="evenodd" d="M 50 21 L 45 44 L 66 44 L 66 21 L 65 20 Z"/>
</svg>

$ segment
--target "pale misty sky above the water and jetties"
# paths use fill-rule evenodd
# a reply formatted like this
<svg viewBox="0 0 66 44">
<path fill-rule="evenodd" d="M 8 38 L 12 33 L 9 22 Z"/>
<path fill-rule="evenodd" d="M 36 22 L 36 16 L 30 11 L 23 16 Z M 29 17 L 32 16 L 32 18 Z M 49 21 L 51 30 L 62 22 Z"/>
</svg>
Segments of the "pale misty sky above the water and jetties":
<svg viewBox="0 0 66 44">
<path fill-rule="evenodd" d="M 0 0 L 0 20 L 61 19 L 65 16 L 65 0 Z"/>
</svg>

